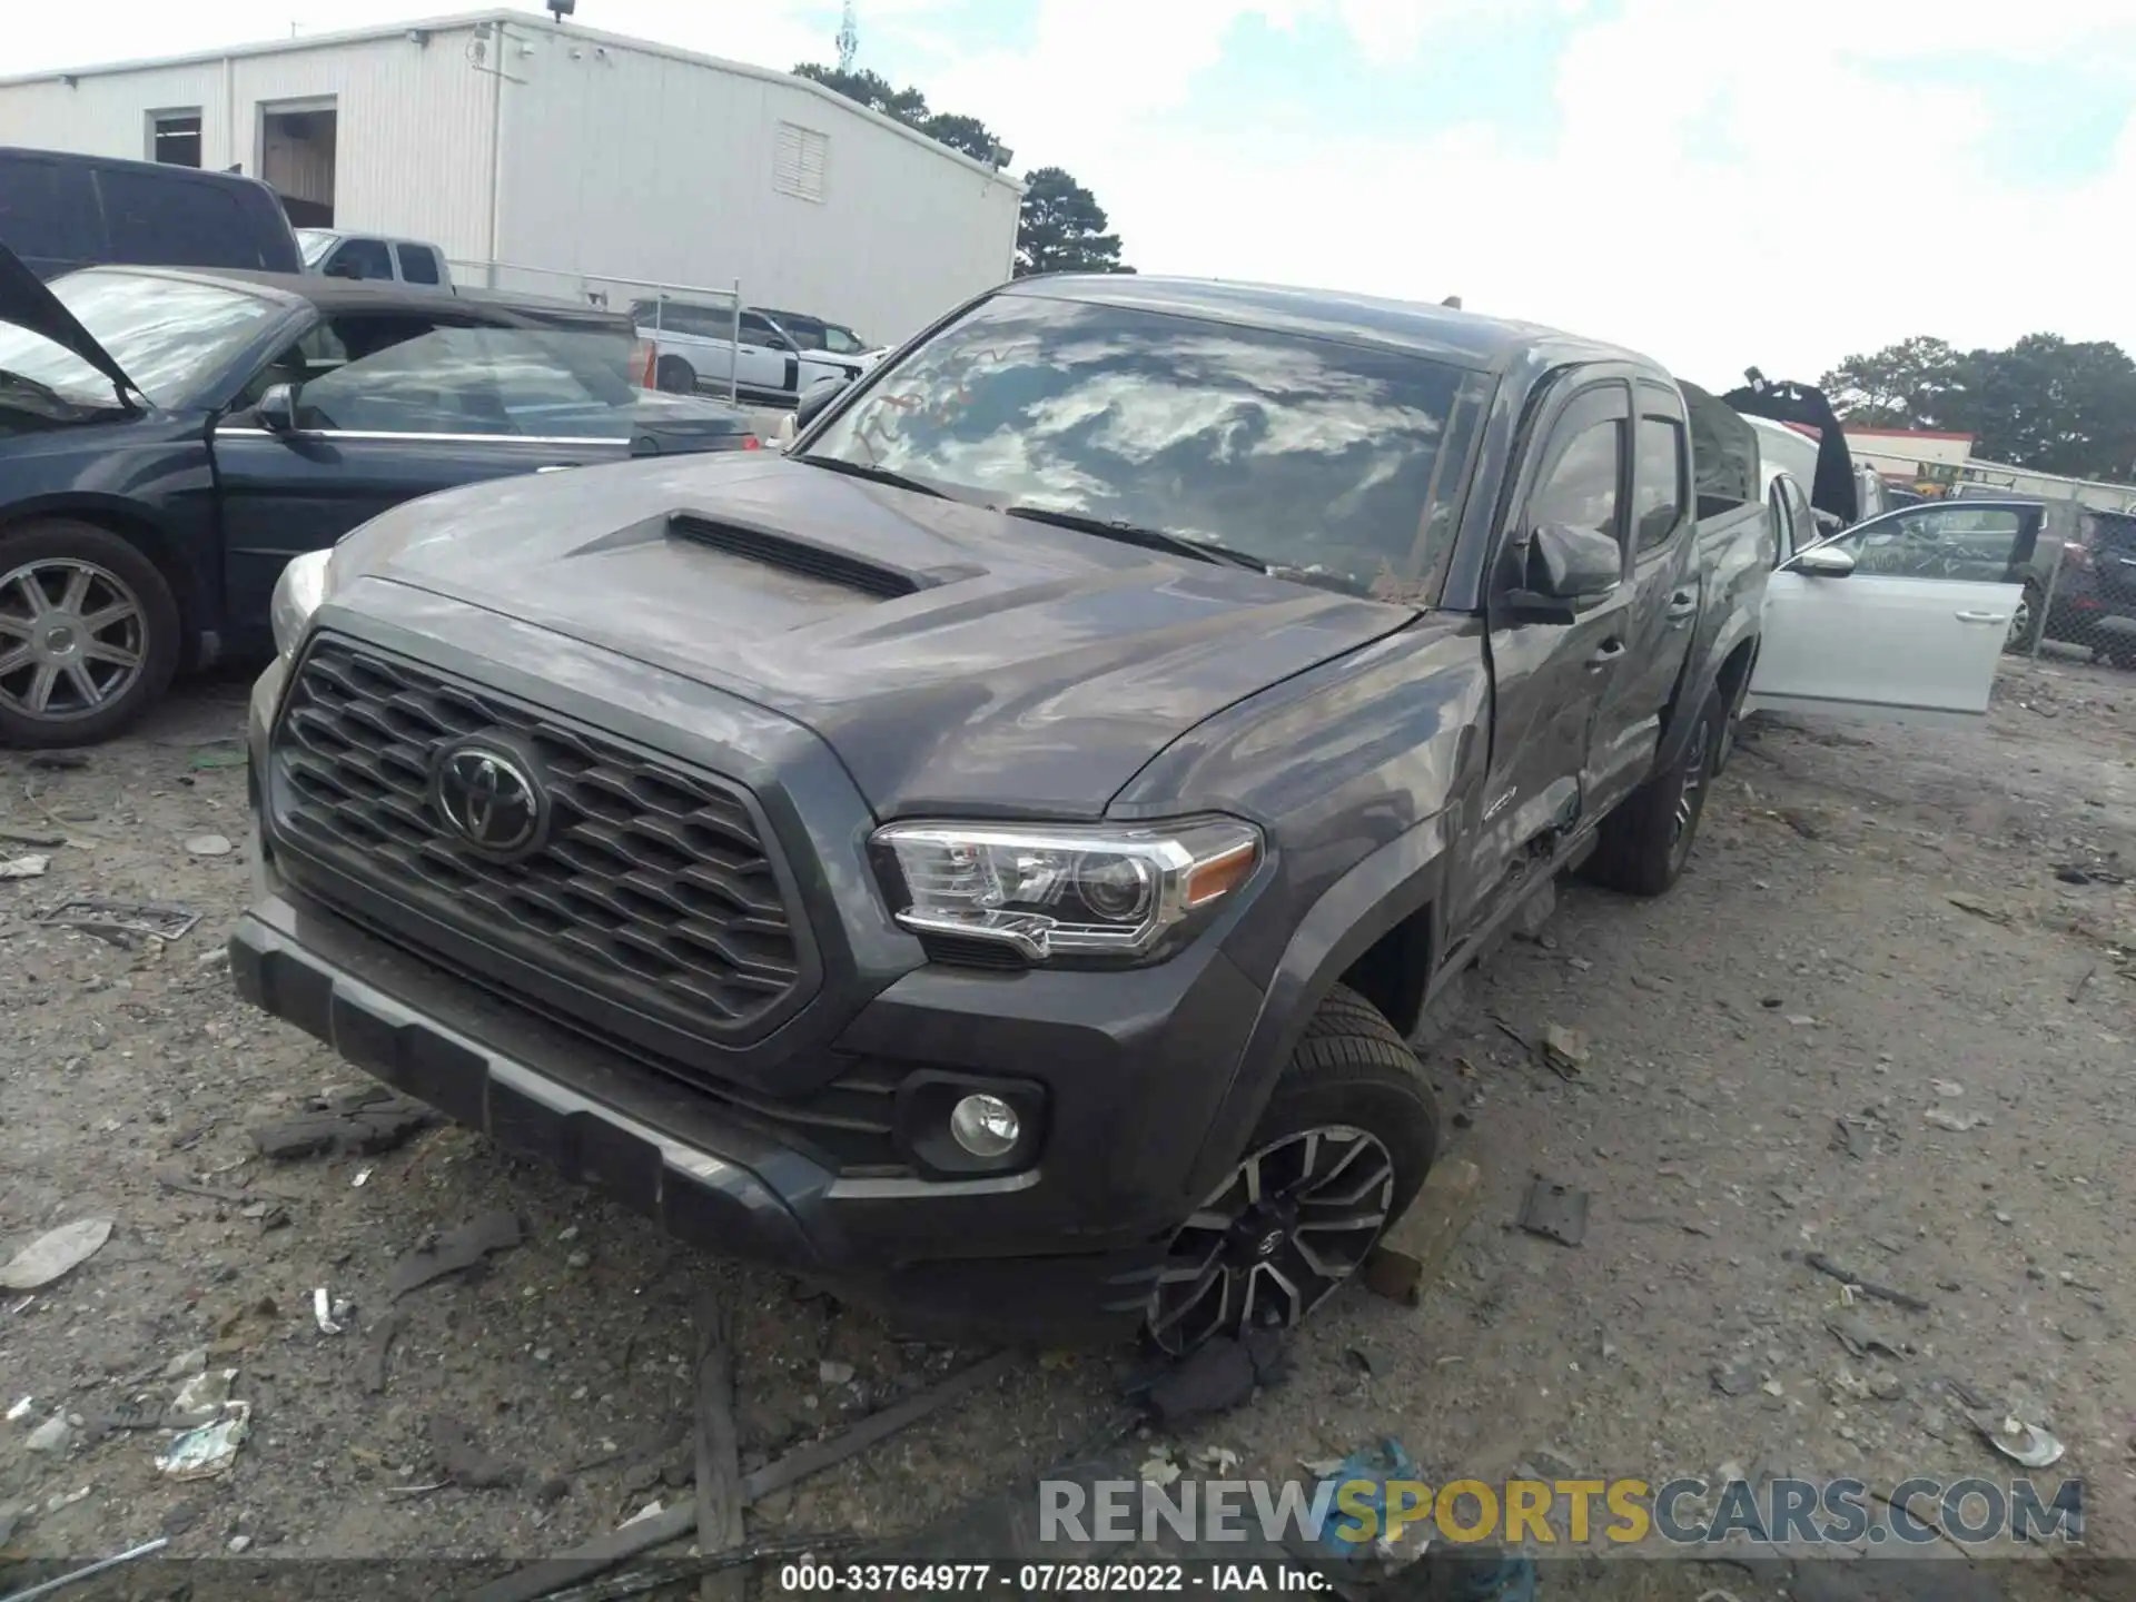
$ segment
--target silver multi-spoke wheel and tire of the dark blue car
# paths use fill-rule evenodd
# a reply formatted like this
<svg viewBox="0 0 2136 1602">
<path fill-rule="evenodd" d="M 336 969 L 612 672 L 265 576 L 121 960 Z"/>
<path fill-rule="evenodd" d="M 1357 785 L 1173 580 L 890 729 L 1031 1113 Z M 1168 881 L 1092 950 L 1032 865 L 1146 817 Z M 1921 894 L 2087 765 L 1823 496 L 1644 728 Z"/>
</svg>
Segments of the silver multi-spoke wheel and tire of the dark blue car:
<svg viewBox="0 0 2136 1602">
<path fill-rule="evenodd" d="M 177 658 L 177 598 L 130 540 L 68 517 L 0 534 L 0 745 L 111 739 L 162 701 Z"/>
</svg>

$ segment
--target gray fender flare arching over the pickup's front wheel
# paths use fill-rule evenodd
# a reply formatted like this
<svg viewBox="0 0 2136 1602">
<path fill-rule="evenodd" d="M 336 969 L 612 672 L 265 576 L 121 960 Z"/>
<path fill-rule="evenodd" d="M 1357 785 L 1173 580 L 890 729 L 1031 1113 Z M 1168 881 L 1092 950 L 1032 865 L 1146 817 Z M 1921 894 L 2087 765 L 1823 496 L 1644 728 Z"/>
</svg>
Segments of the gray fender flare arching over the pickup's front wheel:
<svg viewBox="0 0 2136 1602">
<path fill-rule="evenodd" d="M 1190 1192 L 1205 1196 L 1239 1160 L 1314 1010 L 1380 936 L 1431 910 L 1427 961 L 1446 948 L 1440 908 L 1452 810 L 1386 842 L 1335 880 L 1292 931 L 1269 976 L 1230 1085 L 1194 1158 Z"/>
</svg>

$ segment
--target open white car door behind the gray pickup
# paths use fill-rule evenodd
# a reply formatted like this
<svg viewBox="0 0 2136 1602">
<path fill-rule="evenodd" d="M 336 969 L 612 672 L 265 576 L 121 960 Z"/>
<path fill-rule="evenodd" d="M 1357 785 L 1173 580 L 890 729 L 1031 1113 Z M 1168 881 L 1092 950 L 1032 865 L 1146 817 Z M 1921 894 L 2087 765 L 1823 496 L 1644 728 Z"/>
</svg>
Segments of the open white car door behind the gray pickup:
<svg viewBox="0 0 2136 1602">
<path fill-rule="evenodd" d="M 1745 711 L 1978 718 L 2019 619 L 2040 502 L 1905 506 L 1773 575 Z"/>
</svg>

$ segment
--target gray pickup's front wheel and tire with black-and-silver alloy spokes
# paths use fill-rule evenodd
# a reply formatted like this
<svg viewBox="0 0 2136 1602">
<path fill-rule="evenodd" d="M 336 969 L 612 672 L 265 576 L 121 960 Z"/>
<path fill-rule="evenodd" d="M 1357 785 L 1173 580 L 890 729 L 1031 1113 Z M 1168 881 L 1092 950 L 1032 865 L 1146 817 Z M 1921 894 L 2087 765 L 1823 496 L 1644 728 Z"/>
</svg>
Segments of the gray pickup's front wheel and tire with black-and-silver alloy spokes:
<svg viewBox="0 0 2136 1602">
<path fill-rule="evenodd" d="M 1218 1335 L 1301 1322 L 1401 1218 L 1438 1149 L 1440 1106 L 1416 1053 L 1371 1002 L 1337 985 L 1290 1053 L 1245 1156 L 1173 1235 L 1149 1299 L 1149 1339 L 1190 1352 Z"/>
</svg>

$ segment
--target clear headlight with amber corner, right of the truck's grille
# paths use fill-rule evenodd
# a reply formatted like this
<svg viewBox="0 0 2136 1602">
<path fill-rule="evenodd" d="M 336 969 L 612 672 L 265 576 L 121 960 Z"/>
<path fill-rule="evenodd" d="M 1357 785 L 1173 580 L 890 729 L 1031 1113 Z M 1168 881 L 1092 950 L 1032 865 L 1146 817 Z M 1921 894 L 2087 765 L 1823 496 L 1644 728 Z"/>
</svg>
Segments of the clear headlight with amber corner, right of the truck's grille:
<svg viewBox="0 0 2136 1602">
<path fill-rule="evenodd" d="M 893 822 L 874 835 L 897 923 L 1049 957 L 1141 959 L 1175 944 L 1260 861 L 1237 818 L 1156 827 Z"/>
</svg>

